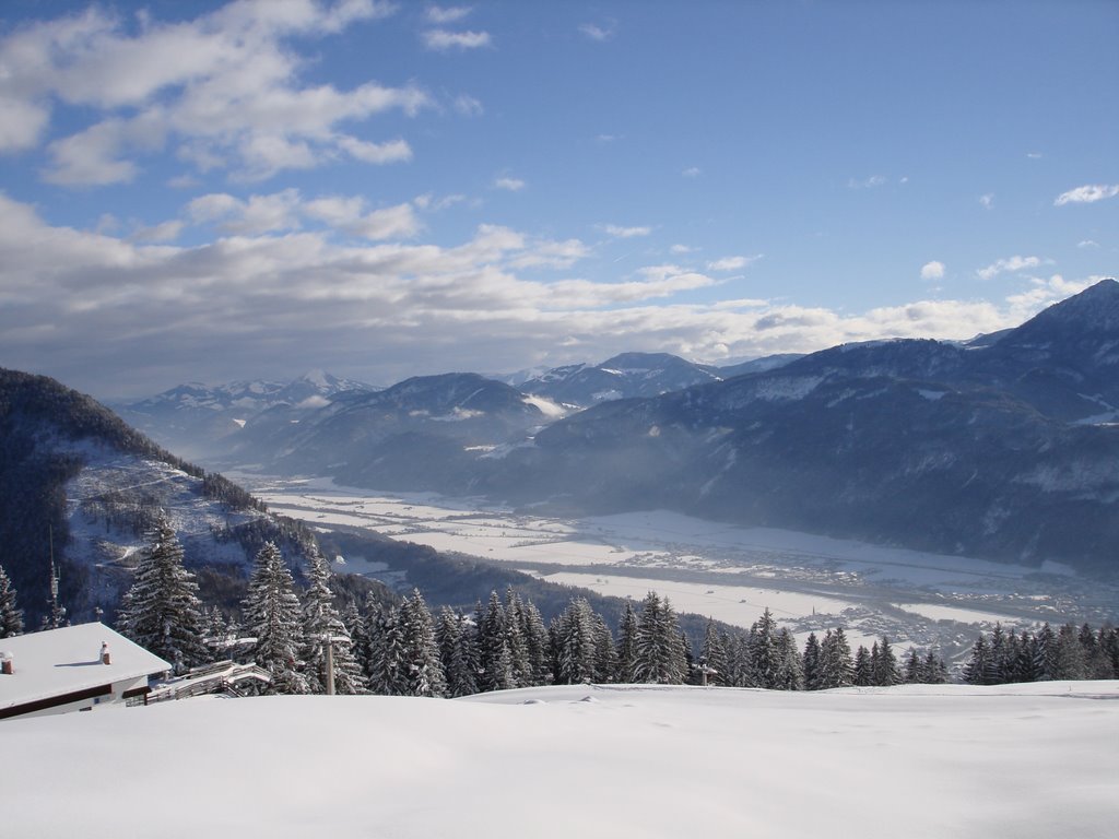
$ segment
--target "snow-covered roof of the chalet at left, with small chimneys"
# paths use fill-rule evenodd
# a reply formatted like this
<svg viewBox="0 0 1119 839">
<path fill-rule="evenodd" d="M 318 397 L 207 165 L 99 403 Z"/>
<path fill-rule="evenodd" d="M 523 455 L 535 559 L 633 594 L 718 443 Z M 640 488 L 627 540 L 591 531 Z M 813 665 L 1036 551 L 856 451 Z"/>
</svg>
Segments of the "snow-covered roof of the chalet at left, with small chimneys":
<svg viewBox="0 0 1119 839">
<path fill-rule="evenodd" d="M 102 643 L 109 644 L 111 664 L 101 663 Z M 103 623 L 3 638 L 2 653 L 11 654 L 13 673 L 0 675 L 0 710 L 171 669 Z"/>
</svg>

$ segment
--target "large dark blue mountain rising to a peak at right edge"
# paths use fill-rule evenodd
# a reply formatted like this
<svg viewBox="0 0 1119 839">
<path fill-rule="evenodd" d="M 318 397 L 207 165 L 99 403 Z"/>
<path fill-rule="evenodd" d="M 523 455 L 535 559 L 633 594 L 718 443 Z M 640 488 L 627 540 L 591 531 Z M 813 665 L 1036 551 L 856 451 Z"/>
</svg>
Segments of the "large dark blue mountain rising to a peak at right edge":
<svg viewBox="0 0 1119 839">
<path fill-rule="evenodd" d="M 476 487 L 1113 571 L 1117 347 L 1109 280 L 986 346 L 848 345 L 604 403 L 543 430 Z"/>
</svg>

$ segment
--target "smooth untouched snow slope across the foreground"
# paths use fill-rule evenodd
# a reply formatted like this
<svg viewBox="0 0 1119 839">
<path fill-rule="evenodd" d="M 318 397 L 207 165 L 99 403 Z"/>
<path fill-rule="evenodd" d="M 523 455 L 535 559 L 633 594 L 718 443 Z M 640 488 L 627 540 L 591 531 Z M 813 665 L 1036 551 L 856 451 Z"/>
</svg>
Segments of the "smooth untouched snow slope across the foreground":
<svg viewBox="0 0 1119 839">
<path fill-rule="evenodd" d="M 1119 681 L 195 699 L 0 724 L 3 836 L 1113 837 Z"/>
</svg>

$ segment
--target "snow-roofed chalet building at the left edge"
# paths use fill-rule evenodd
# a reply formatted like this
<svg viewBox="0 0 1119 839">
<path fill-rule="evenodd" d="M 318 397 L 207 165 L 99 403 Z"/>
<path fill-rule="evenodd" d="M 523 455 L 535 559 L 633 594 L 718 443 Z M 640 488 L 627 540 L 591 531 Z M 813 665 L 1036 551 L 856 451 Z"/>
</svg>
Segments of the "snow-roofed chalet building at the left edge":
<svg viewBox="0 0 1119 839">
<path fill-rule="evenodd" d="M 171 664 L 102 623 L 0 640 L 0 719 L 145 704 Z"/>
</svg>

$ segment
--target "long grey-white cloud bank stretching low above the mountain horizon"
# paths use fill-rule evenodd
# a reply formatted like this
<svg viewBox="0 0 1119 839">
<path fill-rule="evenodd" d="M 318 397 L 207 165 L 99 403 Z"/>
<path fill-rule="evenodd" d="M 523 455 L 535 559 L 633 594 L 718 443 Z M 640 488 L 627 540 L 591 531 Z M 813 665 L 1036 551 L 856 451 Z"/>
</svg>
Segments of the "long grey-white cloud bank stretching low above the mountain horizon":
<svg viewBox="0 0 1119 839">
<path fill-rule="evenodd" d="M 718 280 L 675 264 L 619 282 L 571 276 L 594 256 L 586 245 L 493 225 L 453 247 L 331 233 L 364 224 L 369 234 L 394 225 L 406 234 L 415 206 L 215 192 L 184 217 L 229 235 L 171 246 L 54 227 L 0 194 L 0 357 L 102 397 L 293 367 L 387 383 L 445 371 L 449 358 L 459 369 L 514 369 L 528 358 L 554 366 L 634 348 L 717 359 L 887 337 L 970 338 L 1016 326 L 1094 280 L 1055 275 L 1004 300 L 864 312 L 684 303 L 679 295 Z M 551 270 L 564 275 L 548 281 Z"/>
</svg>

